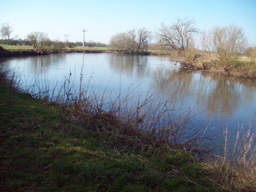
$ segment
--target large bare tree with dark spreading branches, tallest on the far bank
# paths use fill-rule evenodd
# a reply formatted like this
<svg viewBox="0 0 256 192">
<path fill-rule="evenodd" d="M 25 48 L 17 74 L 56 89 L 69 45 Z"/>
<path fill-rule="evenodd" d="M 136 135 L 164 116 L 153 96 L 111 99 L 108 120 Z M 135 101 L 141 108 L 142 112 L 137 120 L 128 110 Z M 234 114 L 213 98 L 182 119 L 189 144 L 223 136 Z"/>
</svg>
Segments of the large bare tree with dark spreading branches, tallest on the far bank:
<svg viewBox="0 0 256 192">
<path fill-rule="evenodd" d="M 163 23 L 156 32 L 156 39 L 160 46 L 169 46 L 174 50 L 184 50 L 193 43 L 193 35 L 197 34 L 198 29 L 192 19 L 178 18 L 171 26 L 165 26 Z"/>
</svg>

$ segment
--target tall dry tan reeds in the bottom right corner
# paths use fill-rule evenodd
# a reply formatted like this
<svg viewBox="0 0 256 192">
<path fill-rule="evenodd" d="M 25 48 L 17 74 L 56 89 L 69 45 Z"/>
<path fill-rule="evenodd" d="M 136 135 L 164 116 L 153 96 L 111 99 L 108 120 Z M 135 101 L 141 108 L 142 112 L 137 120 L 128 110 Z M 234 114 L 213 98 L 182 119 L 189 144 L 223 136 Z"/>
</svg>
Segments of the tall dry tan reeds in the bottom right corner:
<svg viewBox="0 0 256 192">
<path fill-rule="evenodd" d="M 225 131 L 224 154 L 216 156 L 213 170 L 216 185 L 233 191 L 256 191 L 256 126 L 237 129 L 236 141 L 231 152 L 228 150 L 228 126 Z"/>
</svg>

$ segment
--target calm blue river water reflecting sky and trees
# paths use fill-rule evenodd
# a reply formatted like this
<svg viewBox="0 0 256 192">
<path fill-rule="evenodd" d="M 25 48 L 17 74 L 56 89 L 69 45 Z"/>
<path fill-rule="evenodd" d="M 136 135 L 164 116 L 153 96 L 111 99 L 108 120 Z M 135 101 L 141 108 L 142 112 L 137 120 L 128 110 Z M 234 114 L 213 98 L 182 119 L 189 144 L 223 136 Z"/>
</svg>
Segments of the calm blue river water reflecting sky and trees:
<svg viewBox="0 0 256 192">
<path fill-rule="evenodd" d="M 18 68 L 27 86 L 37 76 L 42 81 L 47 79 L 53 87 L 70 72 L 79 84 L 82 69 L 83 81 L 90 81 L 95 92 L 111 92 L 113 100 L 128 87 L 140 96 L 164 95 L 164 99 L 181 106 L 181 113 L 193 108 L 190 126 L 207 127 L 214 132 L 210 139 L 215 144 L 220 143 L 226 128 L 231 144 L 236 140 L 238 127 L 245 132 L 251 123 L 252 131 L 256 128 L 255 79 L 188 70 L 159 56 L 74 53 L 16 57 L 2 62 Z"/>
</svg>

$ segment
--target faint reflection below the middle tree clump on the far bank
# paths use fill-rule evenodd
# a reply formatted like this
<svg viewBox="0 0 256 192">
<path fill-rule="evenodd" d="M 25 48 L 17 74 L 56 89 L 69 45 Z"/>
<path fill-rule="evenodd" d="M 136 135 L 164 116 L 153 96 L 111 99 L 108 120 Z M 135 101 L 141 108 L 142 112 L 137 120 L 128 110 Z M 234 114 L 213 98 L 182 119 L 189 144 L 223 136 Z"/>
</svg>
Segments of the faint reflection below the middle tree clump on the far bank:
<svg viewBox="0 0 256 192">
<path fill-rule="evenodd" d="M 112 70 L 118 70 L 121 74 L 129 76 L 135 74 L 137 77 L 149 74 L 148 57 L 146 56 L 110 54 L 109 63 Z"/>
</svg>

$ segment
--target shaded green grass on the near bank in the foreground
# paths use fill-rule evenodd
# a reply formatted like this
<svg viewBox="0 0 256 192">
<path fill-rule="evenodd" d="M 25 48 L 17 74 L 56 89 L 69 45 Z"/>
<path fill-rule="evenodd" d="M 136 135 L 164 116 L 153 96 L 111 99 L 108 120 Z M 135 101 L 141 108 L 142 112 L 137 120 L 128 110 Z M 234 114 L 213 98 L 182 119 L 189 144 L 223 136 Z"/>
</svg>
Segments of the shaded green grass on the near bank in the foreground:
<svg viewBox="0 0 256 192">
<path fill-rule="evenodd" d="M 0 98 L 0 191 L 216 191 L 186 151 L 116 152 L 28 94 Z"/>
</svg>

